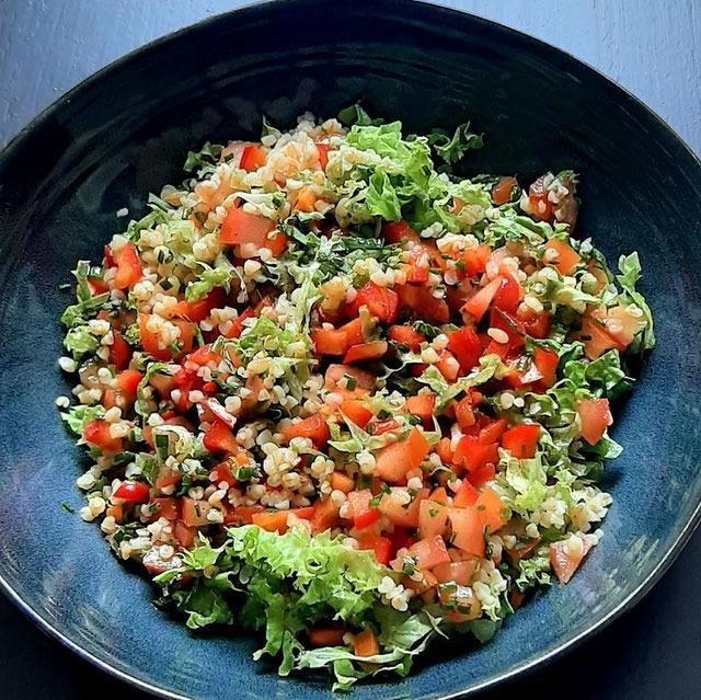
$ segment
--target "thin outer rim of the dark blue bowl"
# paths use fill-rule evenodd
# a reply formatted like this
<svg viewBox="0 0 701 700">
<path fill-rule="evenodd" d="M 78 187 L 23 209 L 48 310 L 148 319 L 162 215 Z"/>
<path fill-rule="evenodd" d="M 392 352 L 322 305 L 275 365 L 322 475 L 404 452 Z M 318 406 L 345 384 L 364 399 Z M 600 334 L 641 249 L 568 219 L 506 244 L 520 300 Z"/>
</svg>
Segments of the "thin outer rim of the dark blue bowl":
<svg viewBox="0 0 701 700">
<path fill-rule="evenodd" d="M 248 14 L 251 11 L 275 11 L 276 8 L 285 7 L 285 5 L 294 5 L 294 4 L 307 4 L 311 0 L 251 0 L 244 5 L 237 8 L 235 10 L 231 10 L 229 12 L 221 12 L 215 14 L 210 18 L 206 18 L 199 22 L 185 26 L 183 28 L 176 30 L 163 36 L 160 36 L 143 46 L 140 46 L 124 56 L 117 58 L 116 60 L 107 64 L 104 68 L 101 68 L 96 72 L 92 73 L 88 78 L 81 80 L 73 88 L 71 88 L 64 95 L 54 101 L 49 106 L 45 107 L 36 117 L 34 117 L 25 127 L 23 127 L 10 141 L 5 145 L 5 147 L 0 151 L 0 171 L 3 169 L 4 162 L 12 157 L 13 152 L 21 148 L 25 138 L 30 136 L 30 134 L 39 127 L 42 124 L 47 122 L 53 114 L 64 107 L 66 104 L 69 104 L 74 95 L 79 94 L 83 89 L 102 81 L 105 78 L 110 77 L 110 73 L 115 71 L 118 68 L 126 67 L 133 60 L 136 60 L 141 54 L 148 53 L 150 50 L 158 50 L 161 46 L 165 46 L 172 42 L 177 41 L 177 38 L 192 31 L 196 31 L 199 27 L 214 24 L 218 21 L 221 21 L 222 18 L 234 15 L 234 14 Z M 336 8 L 338 7 L 338 0 L 313 0 L 317 4 L 321 2 L 326 2 L 329 4 L 334 4 Z M 344 0 L 341 0 L 344 2 Z M 363 2 L 368 2 L 370 7 L 377 10 L 378 5 L 383 4 L 386 8 L 391 9 L 395 8 L 400 10 L 402 8 L 403 2 L 405 0 L 350 0 L 353 4 L 358 4 Z M 530 48 L 535 54 L 543 56 L 545 59 L 559 58 L 560 60 L 565 59 L 570 61 L 574 66 L 576 66 L 579 70 L 582 68 L 585 71 L 590 72 L 595 78 L 599 81 L 608 83 L 609 87 L 614 88 L 620 93 L 620 96 L 625 99 L 634 108 L 636 108 L 640 113 L 642 113 L 646 118 L 653 119 L 657 124 L 658 127 L 662 128 L 663 131 L 667 134 L 673 140 L 676 140 L 679 146 L 686 151 L 686 153 L 691 157 L 692 161 L 696 162 L 697 167 L 701 169 L 701 158 L 697 156 L 697 153 L 691 149 L 691 147 L 686 142 L 677 131 L 670 127 L 654 110 L 648 107 L 644 102 L 642 102 L 639 97 L 636 97 L 633 93 L 631 93 L 627 88 L 616 82 L 612 78 L 600 72 L 598 69 L 587 64 L 584 60 L 581 60 L 565 51 L 561 48 L 552 46 L 547 42 L 535 38 L 524 32 L 519 32 L 518 30 L 514 30 L 504 24 L 499 24 L 498 22 L 494 22 L 492 20 L 487 20 L 485 18 L 481 18 L 469 12 L 462 12 L 460 10 L 456 10 L 452 8 L 446 8 L 440 4 L 436 4 L 430 1 L 425 0 L 412 0 L 414 4 L 420 5 L 424 10 L 430 10 L 436 15 L 443 14 L 447 21 L 456 18 L 469 18 L 475 25 L 482 25 L 484 27 L 490 27 L 492 30 L 496 30 L 497 32 L 506 35 L 510 38 L 514 38 L 525 45 L 527 48 Z M 345 2 L 344 2 L 345 3 Z M 487 688 L 497 686 L 506 680 L 513 679 L 518 675 L 525 674 L 527 672 L 533 670 L 536 667 L 544 665 L 563 654 L 567 650 L 575 649 L 579 644 L 582 644 L 587 638 L 591 636 L 595 633 L 604 630 L 608 624 L 610 624 L 618 617 L 633 608 L 640 600 L 650 593 L 650 590 L 655 586 L 655 584 L 662 578 L 663 574 L 669 569 L 669 566 L 677 559 L 683 547 L 687 544 L 691 536 L 693 535 L 697 527 L 701 524 L 701 501 L 697 504 L 691 517 L 687 520 L 683 528 L 677 536 L 673 546 L 664 553 L 660 560 L 657 562 L 655 569 L 647 575 L 647 577 L 635 588 L 624 600 L 622 600 L 616 608 L 613 608 L 606 617 L 597 620 L 591 623 L 586 630 L 573 636 L 572 639 L 563 642 L 559 646 L 550 650 L 547 653 L 543 653 L 538 658 L 533 658 L 532 661 L 524 662 L 520 665 L 517 665 L 509 670 L 494 674 L 492 677 L 479 682 L 470 687 L 469 689 L 459 690 L 457 692 L 448 693 L 445 696 L 440 696 L 436 700 L 453 700 L 458 698 L 464 698 L 470 695 L 474 695 Z M 110 674 L 114 678 L 118 680 L 125 681 L 139 688 L 140 690 L 145 690 L 154 696 L 161 698 L 168 698 L 169 700 L 192 700 L 188 696 L 183 696 L 176 693 L 172 690 L 168 690 L 165 688 L 161 688 L 159 686 L 152 685 L 141 678 L 137 678 L 136 676 L 131 676 L 118 668 L 112 666 L 108 662 L 100 658 L 100 656 L 93 654 L 88 651 L 69 636 L 64 634 L 60 630 L 56 629 L 48 620 L 46 620 L 42 615 L 35 610 L 31 605 L 28 605 L 19 593 L 12 588 L 8 581 L 0 573 L 0 589 L 4 593 L 4 595 L 30 619 L 33 623 L 35 623 L 43 632 L 58 640 L 65 647 L 69 649 L 73 653 L 76 653 L 81 658 L 90 662 L 97 668 L 104 670 Z"/>
</svg>

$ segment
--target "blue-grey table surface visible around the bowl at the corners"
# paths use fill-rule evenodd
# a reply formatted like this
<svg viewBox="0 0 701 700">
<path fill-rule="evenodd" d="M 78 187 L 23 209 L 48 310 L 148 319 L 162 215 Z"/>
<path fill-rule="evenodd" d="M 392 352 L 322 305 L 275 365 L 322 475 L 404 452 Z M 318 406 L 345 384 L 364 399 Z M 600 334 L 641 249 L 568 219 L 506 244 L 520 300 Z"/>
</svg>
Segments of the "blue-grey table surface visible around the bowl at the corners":
<svg viewBox="0 0 701 700">
<path fill-rule="evenodd" d="M 407 0 L 409 1 L 409 0 Z M 3 0 L 0 146 L 66 90 L 142 44 L 240 7 L 232 0 Z M 448 0 L 553 44 L 633 92 L 701 153 L 701 2 Z M 483 696 L 701 698 L 701 532 L 631 612 L 575 652 Z M 469 663 L 469 662 L 466 662 Z M 115 693 L 113 696 L 113 693 Z M 49 640 L 0 596 L 0 697 L 146 700 Z"/>
</svg>

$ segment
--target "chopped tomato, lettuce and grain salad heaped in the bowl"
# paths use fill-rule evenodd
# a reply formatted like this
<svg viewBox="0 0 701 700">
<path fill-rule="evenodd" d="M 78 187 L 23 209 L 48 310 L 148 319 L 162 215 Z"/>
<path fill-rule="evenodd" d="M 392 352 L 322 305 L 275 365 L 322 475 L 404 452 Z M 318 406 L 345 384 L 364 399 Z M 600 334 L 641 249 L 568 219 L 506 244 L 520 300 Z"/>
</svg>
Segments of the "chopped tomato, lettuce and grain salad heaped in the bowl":
<svg viewBox="0 0 701 700">
<path fill-rule="evenodd" d="M 73 272 L 80 516 L 281 675 L 485 642 L 601 537 L 610 401 L 654 345 L 639 259 L 576 230 L 573 172 L 455 175 L 481 145 L 358 106 L 264 122 Z"/>
</svg>

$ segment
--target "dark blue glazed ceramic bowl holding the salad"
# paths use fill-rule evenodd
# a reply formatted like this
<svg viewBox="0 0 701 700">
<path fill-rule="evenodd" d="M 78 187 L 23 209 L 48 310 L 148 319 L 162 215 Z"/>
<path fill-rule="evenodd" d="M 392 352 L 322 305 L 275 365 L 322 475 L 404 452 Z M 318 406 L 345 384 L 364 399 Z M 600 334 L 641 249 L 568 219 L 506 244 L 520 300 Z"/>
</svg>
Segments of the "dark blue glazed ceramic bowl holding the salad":
<svg viewBox="0 0 701 700">
<path fill-rule="evenodd" d="M 279 50 L 278 47 L 285 47 Z M 171 698 L 327 697 L 326 680 L 279 679 L 254 641 L 193 636 L 151 605 L 80 504 L 79 451 L 54 398 L 80 257 L 119 230 L 115 211 L 177 181 L 206 139 L 251 138 L 261 115 L 291 124 L 361 99 L 407 129 L 470 117 L 486 148 L 469 169 L 582 173 L 581 231 L 611 259 L 639 250 L 658 347 L 620 406 L 625 447 L 606 475 L 606 536 L 489 645 L 445 650 L 401 681 L 354 697 L 448 698 L 552 657 L 657 581 L 700 516 L 701 164 L 631 95 L 570 56 L 464 14 L 391 0 L 253 7 L 181 32 L 91 78 L 0 156 L 0 579 L 45 630 L 102 668 Z"/>
</svg>

